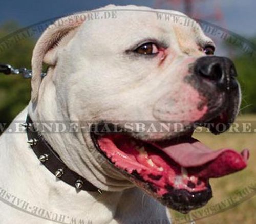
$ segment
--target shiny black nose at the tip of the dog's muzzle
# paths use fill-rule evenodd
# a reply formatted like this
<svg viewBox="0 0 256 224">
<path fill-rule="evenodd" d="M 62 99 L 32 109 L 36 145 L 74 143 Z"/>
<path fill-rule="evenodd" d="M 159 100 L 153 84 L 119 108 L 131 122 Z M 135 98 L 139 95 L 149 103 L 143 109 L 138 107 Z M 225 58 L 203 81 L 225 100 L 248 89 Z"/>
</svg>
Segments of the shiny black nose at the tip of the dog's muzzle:
<svg viewBox="0 0 256 224">
<path fill-rule="evenodd" d="M 205 56 L 196 60 L 196 75 L 211 80 L 223 91 L 237 88 L 237 71 L 233 62 L 226 57 Z"/>
</svg>

